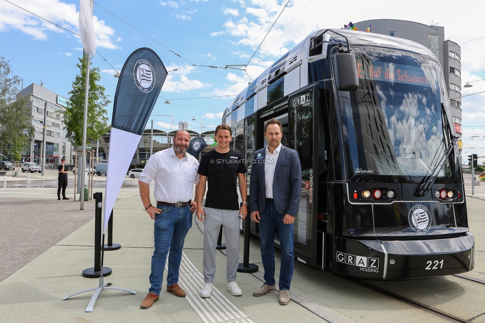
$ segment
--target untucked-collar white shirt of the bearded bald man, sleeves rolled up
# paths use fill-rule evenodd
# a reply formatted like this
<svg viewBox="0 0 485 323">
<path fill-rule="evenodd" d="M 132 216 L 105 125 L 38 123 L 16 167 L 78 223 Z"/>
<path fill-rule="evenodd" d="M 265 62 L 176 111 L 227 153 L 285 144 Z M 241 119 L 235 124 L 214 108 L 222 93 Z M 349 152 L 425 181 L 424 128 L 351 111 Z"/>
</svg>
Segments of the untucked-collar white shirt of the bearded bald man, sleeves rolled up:
<svg viewBox="0 0 485 323">
<path fill-rule="evenodd" d="M 150 185 L 155 179 L 154 197 L 157 201 L 188 202 L 199 183 L 199 162 L 190 154 L 179 159 L 172 148 L 162 150 L 150 157 L 140 174 L 140 180 Z"/>
</svg>

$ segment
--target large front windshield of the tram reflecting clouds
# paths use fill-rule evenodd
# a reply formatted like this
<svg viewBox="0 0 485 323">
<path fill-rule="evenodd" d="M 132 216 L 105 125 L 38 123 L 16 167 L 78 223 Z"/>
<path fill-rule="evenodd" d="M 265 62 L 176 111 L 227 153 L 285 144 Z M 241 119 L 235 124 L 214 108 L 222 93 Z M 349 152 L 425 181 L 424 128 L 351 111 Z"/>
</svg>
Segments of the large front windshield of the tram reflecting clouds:
<svg viewBox="0 0 485 323">
<path fill-rule="evenodd" d="M 443 111 L 439 64 L 379 48 L 353 48 L 360 88 L 339 92 L 345 163 L 351 181 L 454 181 L 457 154 Z M 447 103 L 446 103 L 447 106 Z M 439 179 L 441 178 L 441 179 Z"/>
</svg>

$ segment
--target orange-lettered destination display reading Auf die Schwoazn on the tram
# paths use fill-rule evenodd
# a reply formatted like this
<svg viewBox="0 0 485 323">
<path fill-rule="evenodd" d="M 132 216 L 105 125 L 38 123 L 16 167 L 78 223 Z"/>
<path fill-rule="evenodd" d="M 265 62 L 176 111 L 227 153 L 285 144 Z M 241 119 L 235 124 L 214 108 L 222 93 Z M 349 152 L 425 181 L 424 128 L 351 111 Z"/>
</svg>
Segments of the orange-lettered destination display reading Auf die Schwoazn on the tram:
<svg viewBox="0 0 485 323">
<path fill-rule="evenodd" d="M 431 77 L 434 71 L 415 66 L 357 60 L 357 73 L 360 79 L 399 82 L 437 88 L 437 81 Z"/>
</svg>

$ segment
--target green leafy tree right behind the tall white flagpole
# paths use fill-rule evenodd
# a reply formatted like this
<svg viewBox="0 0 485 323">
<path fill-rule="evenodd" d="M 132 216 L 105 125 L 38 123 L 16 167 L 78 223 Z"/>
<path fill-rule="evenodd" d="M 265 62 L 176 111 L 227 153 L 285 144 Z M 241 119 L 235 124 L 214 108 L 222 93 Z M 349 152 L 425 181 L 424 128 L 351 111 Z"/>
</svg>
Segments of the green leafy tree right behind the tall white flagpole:
<svg viewBox="0 0 485 323">
<path fill-rule="evenodd" d="M 70 94 L 68 106 L 65 110 L 56 111 L 64 114 L 64 125 L 67 131 L 74 135 L 76 146 L 82 146 L 82 127 L 84 119 L 84 89 L 86 84 L 86 60 L 79 59 L 76 66 L 80 74 L 73 81 L 73 89 Z M 99 68 L 89 70 L 89 94 L 87 104 L 87 129 L 86 140 L 96 140 L 109 129 L 106 106 L 111 102 L 104 95 L 105 88 L 97 82 L 101 80 Z"/>
</svg>

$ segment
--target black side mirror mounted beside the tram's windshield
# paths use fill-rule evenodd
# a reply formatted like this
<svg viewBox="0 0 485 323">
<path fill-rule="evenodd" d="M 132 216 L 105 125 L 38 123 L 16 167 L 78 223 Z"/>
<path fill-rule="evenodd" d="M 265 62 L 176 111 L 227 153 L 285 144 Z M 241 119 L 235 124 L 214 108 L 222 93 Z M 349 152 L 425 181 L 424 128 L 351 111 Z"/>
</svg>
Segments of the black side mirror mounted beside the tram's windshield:
<svg viewBox="0 0 485 323">
<path fill-rule="evenodd" d="M 351 53 L 339 53 L 333 58 L 335 83 L 339 91 L 356 91 L 359 88 L 357 61 Z"/>
</svg>

